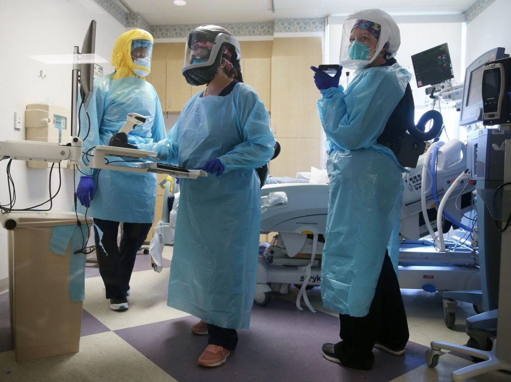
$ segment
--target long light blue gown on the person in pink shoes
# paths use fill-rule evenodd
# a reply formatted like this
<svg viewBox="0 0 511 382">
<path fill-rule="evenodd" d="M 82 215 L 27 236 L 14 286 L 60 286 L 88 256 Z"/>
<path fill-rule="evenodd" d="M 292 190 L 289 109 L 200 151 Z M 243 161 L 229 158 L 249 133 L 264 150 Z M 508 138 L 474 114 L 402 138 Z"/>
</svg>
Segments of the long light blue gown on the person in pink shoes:
<svg viewBox="0 0 511 382">
<path fill-rule="evenodd" d="M 200 93 L 199 93 L 200 94 Z M 169 133 L 169 163 L 219 158 L 220 175 L 181 179 L 168 305 L 224 328 L 249 327 L 255 295 L 261 191 L 255 168 L 273 156 L 269 114 L 243 83 L 193 96 Z"/>
</svg>

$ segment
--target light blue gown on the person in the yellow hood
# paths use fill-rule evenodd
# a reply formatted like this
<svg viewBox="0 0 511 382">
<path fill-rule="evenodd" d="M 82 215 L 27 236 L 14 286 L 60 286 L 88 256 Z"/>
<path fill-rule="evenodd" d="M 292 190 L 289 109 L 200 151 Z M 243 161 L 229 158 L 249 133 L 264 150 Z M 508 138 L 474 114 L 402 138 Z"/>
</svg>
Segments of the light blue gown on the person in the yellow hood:
<svg viewBox="0 0 511 382">
<path fill-rule="evenodd" d="M 83 151 L 96 145 L 108 145 L 110 137 L 118 133 L 126 122 L 128 113 L 147 117 L 143 125 L 128 134 L 128 143 L 140 149 L 151 150 L 153 142 L 165 138 L 165 123 L 159 98 L 154 87 L 138 77 L 124 77 L 112 80 L 113 73 L 94 81 L 94 92 L 87 106 L 89 123 L 84 108 L 80 113 L 80 139 Z M 135 158 L 106 157 L 114 165 L 132 166 Z M 90 157 L 83 156 L 88 164 Z M 138 162 L 140 163 L 140 161 Z M 82 169 L 94 176 L 96 193 L 90 201 L 87 216 L 126 223 L 152 223 L 156 203 L 156 174 L 136 173 L 117 170 L 101 171 Z M 82 174 L 78 173 L 77 184 Z M 78 204 L 78 212 L 85 213 L 85 207 Z"/>
</svg>

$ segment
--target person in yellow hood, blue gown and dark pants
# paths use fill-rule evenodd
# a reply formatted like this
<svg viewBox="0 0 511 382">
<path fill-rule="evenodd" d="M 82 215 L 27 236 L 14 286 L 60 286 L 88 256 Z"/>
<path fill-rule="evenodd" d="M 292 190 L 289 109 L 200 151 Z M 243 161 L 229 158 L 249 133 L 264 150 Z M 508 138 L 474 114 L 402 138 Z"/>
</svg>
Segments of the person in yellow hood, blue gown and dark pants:
<svg viewBox="0 0 511 382">
<path fill-rule="evenodd" d="M 115 71 L 94 81 L 87 111 L 80 110 L 80 138 L 84 162 L 97 145 L 108 145 L 126 122 L 128 113 L 146 117 L 128 134 L 128 143 L 140 149 L 164 151 L 157 142 L 165 139 L 165 124 L 159 98 L 144 77 L 151 71 L 153 37 L 142 29 L 123 33 L 115 41 L 111 64 Z M 90 124 L 89 124 L 90 120 Z M 109 157 L 116 165 L 131 166 L 133 158 Z M 110 309 L 128 309 L 126 295 L 137 250 L 154 221 L 156 175 L 116 170 L 81 169 L 78 211 L 94 217 L 96 252 Z M 86 210 L 88 208 L 88 210 Z M 120 222 L 123 236 L 118 246 Z"/>
</svg>

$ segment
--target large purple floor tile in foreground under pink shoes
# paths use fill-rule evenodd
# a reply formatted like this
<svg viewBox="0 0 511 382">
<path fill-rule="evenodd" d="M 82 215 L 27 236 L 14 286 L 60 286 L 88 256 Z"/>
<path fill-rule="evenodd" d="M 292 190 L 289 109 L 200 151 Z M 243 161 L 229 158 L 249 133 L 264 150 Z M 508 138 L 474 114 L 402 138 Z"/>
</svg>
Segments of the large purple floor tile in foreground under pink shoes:
<svg viewBox="0 0 511 382">
<path fill-rule="evenodd" d="M 294 303 L 277 298 L 267 307 L 254 305 L 250 329 L 239 331 L 236 352 L 224 366 L 205 369 L 197 365 L 197 358 L 207 345 L 207 336 L 191 333 L 195 322 L 197 318 L 188 316 L 115 333 L 179 381 L 383 382 L 425 363 L 427 348 L 412 342 L 403 356 L 375 349 L 371 371 L 347 369 L 327 361 L 321 345 L 339 341 L 339 319 L 321 312 L 298 311 Z"/>
</svg>

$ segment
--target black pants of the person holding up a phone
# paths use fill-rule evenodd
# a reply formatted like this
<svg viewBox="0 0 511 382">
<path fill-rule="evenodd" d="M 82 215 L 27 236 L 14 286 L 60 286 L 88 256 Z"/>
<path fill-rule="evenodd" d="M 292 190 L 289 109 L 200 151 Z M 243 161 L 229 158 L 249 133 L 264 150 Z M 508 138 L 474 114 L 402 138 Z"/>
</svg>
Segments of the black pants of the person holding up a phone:
<svg viewBox="0 0 511 382">
<path fill-rule="evenodd" d="M 402 349 L 408 342 L 408 322 L 392 261 L 385 252 L 375 297 L 365 317 L 339 315 L 341 342 L 335 345 L 335 354 L 350 361 L 374 360 L 376 342 L 389 348 Z M 342 345 L 341 345 L 342 344 Z M 341 350 L 342 348 L 342 350 Z M 343 354 L 341 354 L 343 352 Z M 357 361 L 358 360 L 358 361 Z"/>
</svg>

